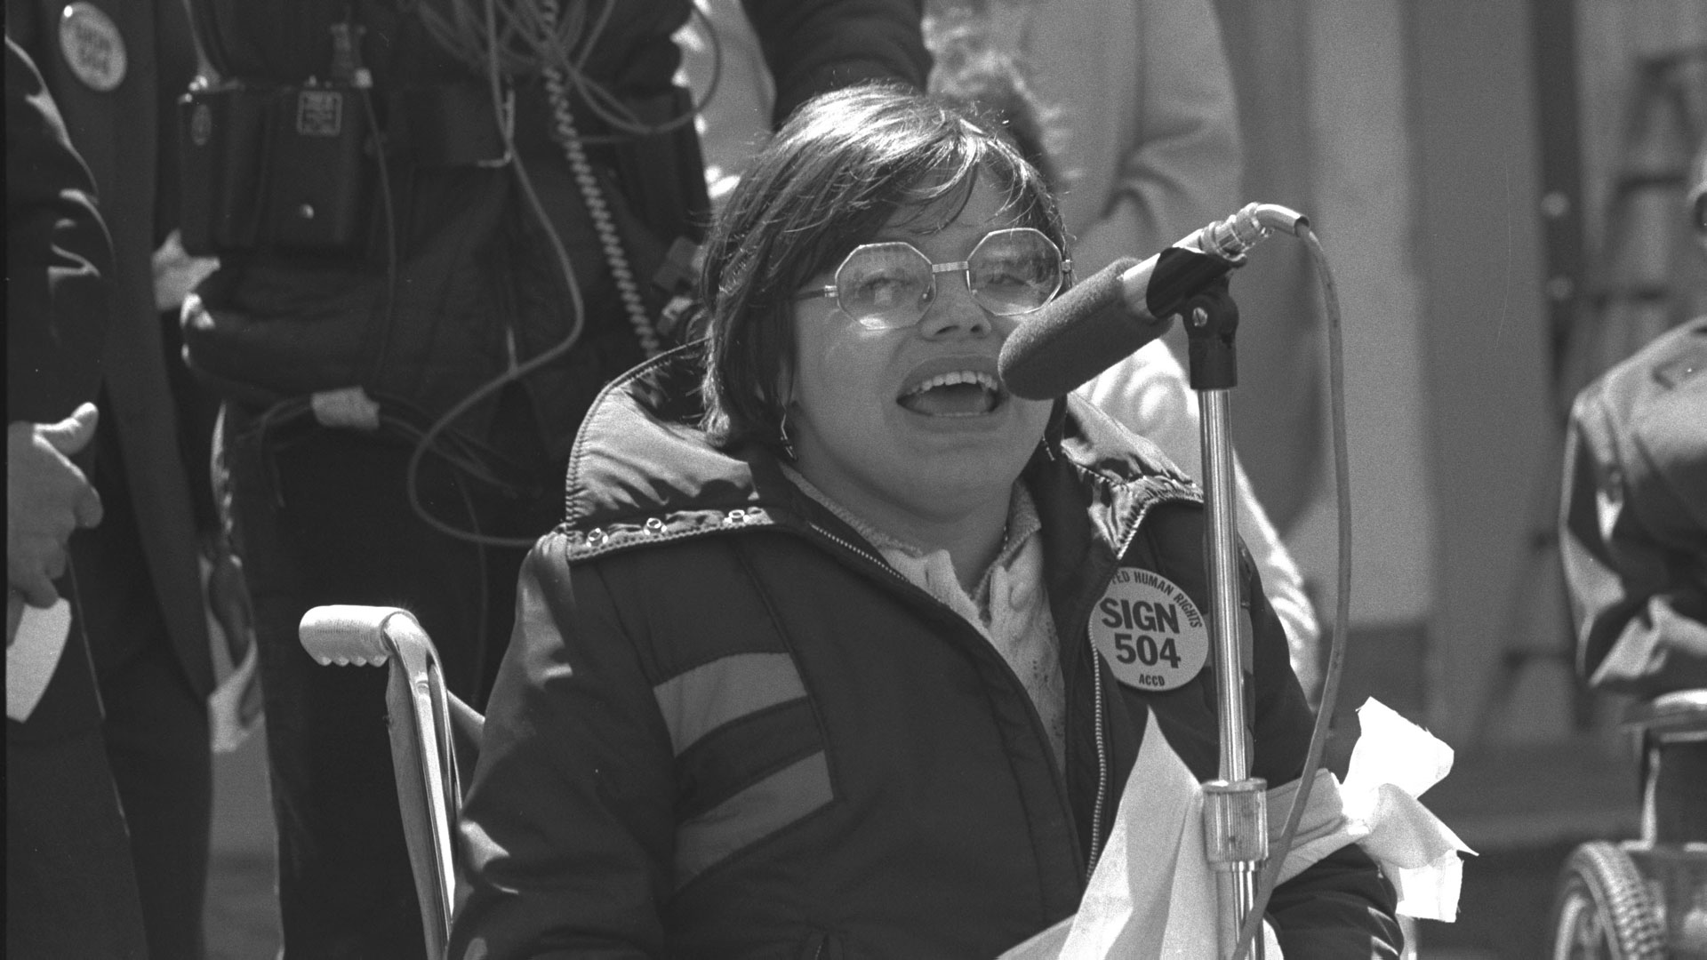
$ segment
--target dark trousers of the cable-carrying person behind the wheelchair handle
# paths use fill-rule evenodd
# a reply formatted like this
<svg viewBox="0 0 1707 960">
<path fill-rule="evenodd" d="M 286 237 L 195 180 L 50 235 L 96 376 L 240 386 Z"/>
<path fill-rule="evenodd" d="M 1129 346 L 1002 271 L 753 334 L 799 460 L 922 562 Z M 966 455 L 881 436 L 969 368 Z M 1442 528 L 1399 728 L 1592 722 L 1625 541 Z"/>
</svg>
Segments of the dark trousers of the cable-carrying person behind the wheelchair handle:
<svg viewBox="0 0 1707 960">
<path fill-rule="evenodd" d="M 500 422 L 533 436 L 510 400 Z M 451 690 L 480 709 L 509 642 L 526 548 L 473 545 L 417 516 L 411 446 L 389 430 L 321 427 L 300 403 L 270 415 L 227 405 L 222 444 L 261 651 L 285 957 L 417 960 L 386 675 L 318 664 L 297 623 L 326 603 L 403 606 L 439 647 Z M 422 506 L 456 528 L 531 541 L 562 518 L 563 473 L 526 444 L 509 466 L 522 478 L 500 489 L 427 456 Z"/>
</svg>

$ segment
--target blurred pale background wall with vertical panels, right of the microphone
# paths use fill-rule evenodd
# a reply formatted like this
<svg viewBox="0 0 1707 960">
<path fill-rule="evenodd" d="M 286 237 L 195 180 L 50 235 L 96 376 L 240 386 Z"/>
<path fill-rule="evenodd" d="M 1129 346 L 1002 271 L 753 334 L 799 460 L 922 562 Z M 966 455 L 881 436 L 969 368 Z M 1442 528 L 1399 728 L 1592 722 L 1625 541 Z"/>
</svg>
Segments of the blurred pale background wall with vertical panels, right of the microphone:
<svg viewBox="0 0 1707 960">
<path fill-rule="evenodd" d="M 1576 386 L 1707 309 L 1681 174 L 1698 0 L 1219 0 L 1246 196 L 1309 214 L 1345 309 L 1352 664 L 1465 748 L 1605 726 L 1550 541 Z M 1617 214 L 1617 215 L 1615 215 Z M 1285 249 L 1292 248 L 1292 249 Z M 1646 287 L 1642 302 L 1623 287 Z M 1331 615 L 1325 333 L 1301 244 L 1234 277 L 1241 458 Z"/>
</svg>

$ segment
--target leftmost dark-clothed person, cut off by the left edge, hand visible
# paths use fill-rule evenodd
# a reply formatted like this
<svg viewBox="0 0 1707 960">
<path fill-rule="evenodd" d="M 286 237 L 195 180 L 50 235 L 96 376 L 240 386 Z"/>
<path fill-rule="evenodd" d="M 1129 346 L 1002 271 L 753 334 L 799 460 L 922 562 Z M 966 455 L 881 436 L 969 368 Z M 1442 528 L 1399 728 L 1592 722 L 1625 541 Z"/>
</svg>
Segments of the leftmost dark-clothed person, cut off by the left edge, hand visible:
<svg viewBox="0 0 1707 960">
<path fill-rule="evenodd" d="M 101 495 L 72 458 L 87 465 L 96 434 L 113 253 L 94 179 L 12 38 L 5 188 L 5 953 L 140 958 L 137 871 L 67 550 L 101 523 Z"/>
</svg>

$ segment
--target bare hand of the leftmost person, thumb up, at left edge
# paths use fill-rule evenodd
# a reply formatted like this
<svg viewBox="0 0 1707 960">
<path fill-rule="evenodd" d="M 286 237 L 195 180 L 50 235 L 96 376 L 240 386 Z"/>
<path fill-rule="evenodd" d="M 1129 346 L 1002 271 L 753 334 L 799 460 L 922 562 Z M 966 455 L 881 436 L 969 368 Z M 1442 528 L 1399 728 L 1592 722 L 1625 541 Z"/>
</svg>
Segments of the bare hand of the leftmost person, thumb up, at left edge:
<svg viewBox="0 0 1707 960">
<path fill-rule="evenodd" d="M 31 606 L 53 606 L 72 531 L 101 523 L 101 495 L 70 461 L 96 436 L 96 405 L 58 424 L 7 424 L 5 572 Z"/>
</svg>

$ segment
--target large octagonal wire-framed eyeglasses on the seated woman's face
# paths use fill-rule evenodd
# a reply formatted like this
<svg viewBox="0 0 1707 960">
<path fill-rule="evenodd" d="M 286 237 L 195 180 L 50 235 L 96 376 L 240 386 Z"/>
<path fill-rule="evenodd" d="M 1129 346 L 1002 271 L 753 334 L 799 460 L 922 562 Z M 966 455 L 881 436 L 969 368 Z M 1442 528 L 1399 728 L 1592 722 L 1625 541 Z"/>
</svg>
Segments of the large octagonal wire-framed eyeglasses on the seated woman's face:
<svg viewBox="0 0 1707 960">
<path fill-rule="evenodd" d="M 995 316 L 1019 316 L 1055 299 L 1069 263 L 1033 227 L 990 231 L 956 263 L 932 263 L 910 243 L 867 243 L 836 266 L 833 285 L 795 299 L 835 297 L 842 313 L 867 330 L 901 330 L 925 316 L 937 296 L 937 273 L 964 273 L 978 306 Z"/>
</svg>

